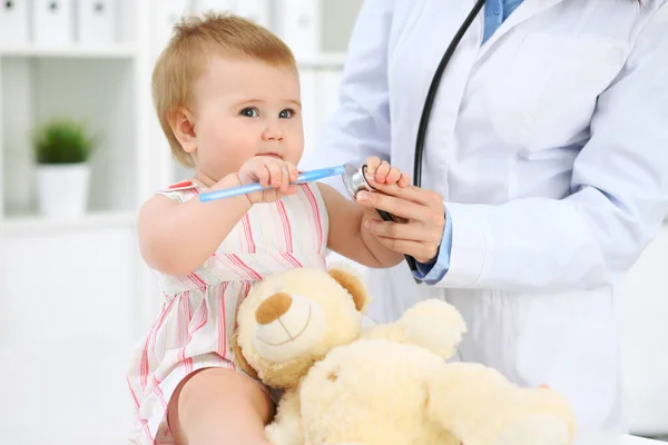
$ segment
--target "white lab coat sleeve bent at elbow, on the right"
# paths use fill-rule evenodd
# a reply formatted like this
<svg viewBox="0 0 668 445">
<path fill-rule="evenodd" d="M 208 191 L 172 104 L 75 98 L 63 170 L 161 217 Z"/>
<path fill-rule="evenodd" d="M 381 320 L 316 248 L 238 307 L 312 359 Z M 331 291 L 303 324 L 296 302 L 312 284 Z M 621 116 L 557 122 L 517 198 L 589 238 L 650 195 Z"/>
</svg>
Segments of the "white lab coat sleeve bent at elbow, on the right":
<svg viewBox="0 0 668 445">
<path fill-rule="evenodd" d="M 600 95 L 571 195 L 503 205 L 445 202 L 450 267 L 440 287 L 517 291 L 615 285 L 668 209 L 668 4 Z"/>
</svg>

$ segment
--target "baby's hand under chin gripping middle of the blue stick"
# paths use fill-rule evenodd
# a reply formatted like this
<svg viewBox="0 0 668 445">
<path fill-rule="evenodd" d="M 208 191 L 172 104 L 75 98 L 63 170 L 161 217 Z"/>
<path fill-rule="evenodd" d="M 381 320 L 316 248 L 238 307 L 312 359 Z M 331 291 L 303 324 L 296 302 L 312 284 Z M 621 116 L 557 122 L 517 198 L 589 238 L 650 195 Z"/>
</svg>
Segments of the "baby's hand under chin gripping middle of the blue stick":
<svg viewBox="0 0 668 445">
<path fill-rule="evenodd" d="M 248 194 L 252 204 L 272 202 L 283 196 L 295 194 L 297 187 L 291 182 L 297 180 L 297 168 L 292 162 L 273 156 L 254 156 L 244 162 L 237 172 L 242 185 L 259 182 L 263 187 L 273 187 Z"/>
</svg>

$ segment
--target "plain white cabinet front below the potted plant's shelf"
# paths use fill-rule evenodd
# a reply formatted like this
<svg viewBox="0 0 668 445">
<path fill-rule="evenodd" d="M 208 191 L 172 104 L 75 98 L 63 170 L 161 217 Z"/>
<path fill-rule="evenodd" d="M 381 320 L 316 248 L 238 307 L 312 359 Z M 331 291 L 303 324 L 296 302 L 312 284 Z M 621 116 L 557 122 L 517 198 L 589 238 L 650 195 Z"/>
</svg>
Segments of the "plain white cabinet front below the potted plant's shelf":
<svg viewBox="0 0 668 445">
<path fill-rule="evenodd" d="M 124 379 L 136 336 L 129 224 L 36 227 L 2 246 L 3 444 L 126 443 Z"/>
</svg>

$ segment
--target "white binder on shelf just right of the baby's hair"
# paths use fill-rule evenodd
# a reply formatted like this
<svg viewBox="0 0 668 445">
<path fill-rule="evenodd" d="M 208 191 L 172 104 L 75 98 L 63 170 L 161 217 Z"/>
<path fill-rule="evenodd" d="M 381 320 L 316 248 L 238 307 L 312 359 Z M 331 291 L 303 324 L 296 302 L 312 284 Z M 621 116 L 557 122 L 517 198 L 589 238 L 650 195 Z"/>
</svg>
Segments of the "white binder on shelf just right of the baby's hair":
<svg viewBox="0 0 668 445">
<path fill-rule="evenodd" d="M 295 57 L 317 55 L 321 50 L 321 1 L 277 0 L 276 32 Z"/>
</svg>

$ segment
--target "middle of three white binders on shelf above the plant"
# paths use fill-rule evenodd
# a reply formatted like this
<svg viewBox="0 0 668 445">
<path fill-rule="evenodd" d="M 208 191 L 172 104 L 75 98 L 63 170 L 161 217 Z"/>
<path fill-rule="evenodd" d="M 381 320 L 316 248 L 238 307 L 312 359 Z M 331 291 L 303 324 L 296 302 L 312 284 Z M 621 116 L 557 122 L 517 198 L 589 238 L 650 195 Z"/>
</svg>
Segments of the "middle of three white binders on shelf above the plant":
<svg viewBox="0 0 668 445">
<path fill-rule="evenodd" d="M 73 0 L 33 0 L 35 42 L 67 46 L 75 41 Z"/>
</svg>

